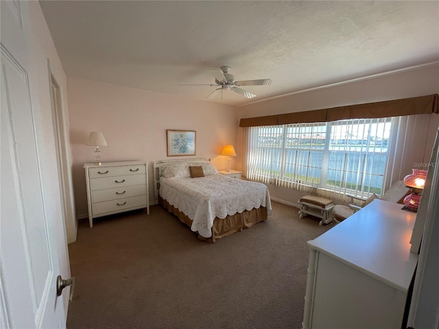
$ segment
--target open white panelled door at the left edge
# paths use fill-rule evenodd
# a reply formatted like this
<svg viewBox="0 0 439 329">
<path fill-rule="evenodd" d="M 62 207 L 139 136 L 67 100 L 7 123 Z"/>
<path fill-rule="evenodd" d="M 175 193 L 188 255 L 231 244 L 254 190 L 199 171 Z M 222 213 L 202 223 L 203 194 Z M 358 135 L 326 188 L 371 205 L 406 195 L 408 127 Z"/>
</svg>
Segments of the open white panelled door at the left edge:
<svg viewBox="0 0 439 329">
<path fill-rule="evenodd" d="M 43 124 L 29 85 L 38 71 L 30 60 L 30 21 L 27 1 L 1 1 L 0 327 L 65 328 L 64 300 L 56 293 L 58 274 L 68 273 L 56 248 L 65 237 L 54 225 L 60 201 L 44 197 L 41 159 L 51 150 L 37 138 Z"/>
</svg>

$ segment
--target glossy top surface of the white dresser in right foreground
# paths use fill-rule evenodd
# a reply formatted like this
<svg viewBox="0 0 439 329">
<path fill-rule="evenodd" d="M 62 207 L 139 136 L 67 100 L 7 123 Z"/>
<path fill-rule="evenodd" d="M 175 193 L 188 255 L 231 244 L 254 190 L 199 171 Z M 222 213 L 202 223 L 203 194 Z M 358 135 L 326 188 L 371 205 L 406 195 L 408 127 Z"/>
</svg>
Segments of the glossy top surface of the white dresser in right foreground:
<svg viewBox="0 0 439 329">
<path fill-rule="evenodd" d="M 418 261 L 410 252 L 416 213 L 402 207 L 376 199 L 308 245 L 407 291 Z"/>
</svg>

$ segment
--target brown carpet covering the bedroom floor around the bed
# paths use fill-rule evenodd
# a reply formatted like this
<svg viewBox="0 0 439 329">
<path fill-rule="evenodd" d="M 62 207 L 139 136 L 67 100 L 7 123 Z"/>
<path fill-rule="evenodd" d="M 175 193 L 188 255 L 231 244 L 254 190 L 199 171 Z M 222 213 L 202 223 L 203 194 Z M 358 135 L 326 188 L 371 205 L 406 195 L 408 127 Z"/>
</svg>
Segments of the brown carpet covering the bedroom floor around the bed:
<svg viewBox="0 0 439 329">
<path fill-rule="evenodd" d="M 67 328 L 301 328 L 306 242 L 333 225 L 272 206 L 268 221 L 216 243 L 161 206 L 80 221 Z"/>
</svg>

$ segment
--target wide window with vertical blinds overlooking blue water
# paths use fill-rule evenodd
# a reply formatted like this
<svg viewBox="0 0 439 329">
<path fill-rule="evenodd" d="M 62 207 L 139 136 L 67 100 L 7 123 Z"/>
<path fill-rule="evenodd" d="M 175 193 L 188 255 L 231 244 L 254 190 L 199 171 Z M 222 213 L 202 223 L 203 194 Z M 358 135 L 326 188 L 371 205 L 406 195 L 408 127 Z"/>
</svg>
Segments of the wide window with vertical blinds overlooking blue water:
<svg viewBox="0 0 439 329">
<path fill-rule="evenodd" d="M 247 177 L 300 189 L 380 194 L 392 118 L 250 127 Z"/>
</svg>

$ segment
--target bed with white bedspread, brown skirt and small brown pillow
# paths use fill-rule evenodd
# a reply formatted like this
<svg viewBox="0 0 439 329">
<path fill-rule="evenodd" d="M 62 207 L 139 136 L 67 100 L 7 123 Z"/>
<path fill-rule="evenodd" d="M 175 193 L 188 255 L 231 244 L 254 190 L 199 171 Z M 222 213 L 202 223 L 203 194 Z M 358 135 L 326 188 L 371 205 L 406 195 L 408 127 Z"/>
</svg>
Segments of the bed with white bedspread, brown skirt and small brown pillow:
<svg viewBox="0 0 439 329">
<path fill-rule="evenodd" d="M 251 228 L 272 212 L 267 186 L 221 175 L 206 159 L 154 162 L 154 197 L 209 242 Z"/>
</svg>

